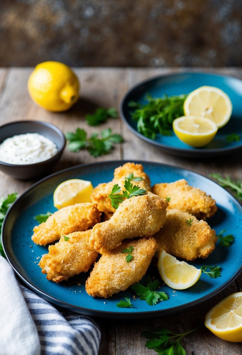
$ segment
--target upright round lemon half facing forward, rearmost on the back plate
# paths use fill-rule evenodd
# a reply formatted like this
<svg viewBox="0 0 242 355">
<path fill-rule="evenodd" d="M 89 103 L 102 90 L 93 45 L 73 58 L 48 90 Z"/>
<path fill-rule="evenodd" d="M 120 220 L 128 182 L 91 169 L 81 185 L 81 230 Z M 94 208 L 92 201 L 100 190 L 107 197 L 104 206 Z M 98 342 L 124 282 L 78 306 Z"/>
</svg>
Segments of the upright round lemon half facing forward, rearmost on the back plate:
<svg viewBox="0 0 242 355">
<path fill-rule="evenodd" d="M 186 116 L 209 118 L 221 128 L 231 117 L 232 103 L 229 96 L 219 88 L 201 86 L 187 96 L 183 110 Z"/>
</svg>

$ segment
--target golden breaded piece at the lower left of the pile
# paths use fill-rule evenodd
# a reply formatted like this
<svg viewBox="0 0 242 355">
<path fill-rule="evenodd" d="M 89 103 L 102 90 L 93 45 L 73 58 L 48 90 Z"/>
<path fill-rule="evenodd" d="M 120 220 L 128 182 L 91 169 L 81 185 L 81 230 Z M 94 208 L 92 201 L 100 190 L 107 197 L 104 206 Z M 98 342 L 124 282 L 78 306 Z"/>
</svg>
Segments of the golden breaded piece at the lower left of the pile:
<svg viewBox="0 0 242 355">
<path fill-rule="evenodd" d="M 68 240 L 62 236 L 59 242 L 49 246 L 48 254 L 40 259 L 39 266 L 46 279 L 59 283 L 69 277 L 89 270 L 98 257 L 98 253 L 90 246 L 91 231 L 68 234 Z"/>
</svg>

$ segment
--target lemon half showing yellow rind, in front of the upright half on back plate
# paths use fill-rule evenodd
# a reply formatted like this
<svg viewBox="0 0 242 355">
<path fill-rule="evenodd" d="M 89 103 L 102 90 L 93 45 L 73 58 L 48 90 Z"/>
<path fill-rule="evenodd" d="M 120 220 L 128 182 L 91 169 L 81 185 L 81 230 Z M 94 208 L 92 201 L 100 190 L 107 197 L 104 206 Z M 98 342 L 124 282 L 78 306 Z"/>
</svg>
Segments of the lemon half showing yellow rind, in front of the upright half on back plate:
<svg viewBox="0 0 242 355">
<path fill-rule="evenodd" d="M 192 147 L 204 147 L 213 140 L 218 128 L 208 118 L 198 116 L 182 116 L 172 124 L 177 138 Z"/>
</svg>

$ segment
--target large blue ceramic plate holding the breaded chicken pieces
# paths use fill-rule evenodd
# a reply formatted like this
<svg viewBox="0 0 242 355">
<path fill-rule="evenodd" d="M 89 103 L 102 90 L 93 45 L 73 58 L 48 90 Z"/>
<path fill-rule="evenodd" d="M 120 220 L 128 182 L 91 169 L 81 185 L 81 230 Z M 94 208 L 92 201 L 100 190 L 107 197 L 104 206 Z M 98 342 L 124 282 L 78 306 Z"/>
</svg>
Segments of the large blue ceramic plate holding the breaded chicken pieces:
<svg viewBox="0 0 242 355">
<path fill-rule="evenodd" d="M 123 163 L 125 162 L 94 163 L 63 170 L 39 181 L 18 198 L 7 213 L 2 228 L 2 244 L 7 259 L 21 279 L 31 289 L 56 305 L 88 315 L 116 318 L 153 317 L 181 311 L 209 299 L 229 285 L 242 268 L 242 207 L 230 193 L 204 176 L 174 166 L 149 162 L 141 163 L 152 184 L 184 178 L 190 185 L 206 191 L 217 201 L 218 212 L 210 218 L 209 224 L 217 233 L 226 229 L 227 233 L 235 235 L 235 242 L 229 248 L 217 245 L 207 259 L 193 264 L 196 267 L 219 265 L 222 267 L 221 277 L 210 279 L 202 274 L 194 286 L 186 290 L 177 290 L 175 293 L 161 282 L 161 290 L 167 293 L 169 300 L 159 302 L 155 306 L 149 306 L 138 297 L 133 300 L 134 293 L 131 289 L 115 294 L 107 300 L 89 296 L 85 291 L 85 281 L 89 273 L 82 273 L 60 284 L 46 280 L 46 275 L 41 273 L 38 262 L 42 254 L 48 251 L 48 247 L 34 245 L 32 242 L 31 235 L 35 225 L 33 217 L 46 211 L 55 211 L 53 192 L 60 182 L 80 178 L 90 180 L 93 186 L 96 186 L 100 182 L 110 181 L 114 169 Z M 159 278 L 154 267 L 149 269 L 147 274 Z M 147 275 L 144 276 L 144 280 L 146 277 Z M 116 306 L 116 303 L 125 296 L 132 300 L 133 308 Z"/>
</svg>

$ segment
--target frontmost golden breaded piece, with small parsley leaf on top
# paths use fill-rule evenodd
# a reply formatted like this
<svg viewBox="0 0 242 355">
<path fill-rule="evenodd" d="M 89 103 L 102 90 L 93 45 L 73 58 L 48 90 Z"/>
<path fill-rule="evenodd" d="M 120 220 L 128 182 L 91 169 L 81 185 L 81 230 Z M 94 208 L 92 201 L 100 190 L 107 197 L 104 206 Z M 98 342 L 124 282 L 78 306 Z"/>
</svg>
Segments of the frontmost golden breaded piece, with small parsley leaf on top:
<svg viewBox="0 0 242 355">
<path fill-rule="evenodd" d="M 131 262 L 126 261 L 122 251 L 133 247 Z M 90 296 L 111 297 L 138 282 L 146 273 L 155 254 L 156 243 L 153 237 L 126 240 L 114 250 L 101 256 L 86 281 L 86 291 Z"/>
</svg>

